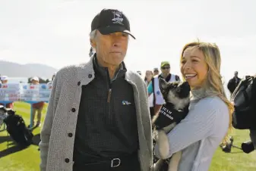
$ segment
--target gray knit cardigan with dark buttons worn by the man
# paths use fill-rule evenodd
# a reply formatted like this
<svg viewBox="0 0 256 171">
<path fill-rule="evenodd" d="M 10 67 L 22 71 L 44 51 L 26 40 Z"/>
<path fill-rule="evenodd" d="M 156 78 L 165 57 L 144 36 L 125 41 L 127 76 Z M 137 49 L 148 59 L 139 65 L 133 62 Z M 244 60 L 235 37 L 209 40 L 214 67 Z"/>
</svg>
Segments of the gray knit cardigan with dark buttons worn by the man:
<svg viewBox="0 0 256 171">
<path fill-rule="evenodd" d="M 55 76 L 40 141 L 41 171 L 71 171 L 81 86 L 94 79 L 92 58 L 87 64 L 64 67 Z M 147 87 L 141 76 L 127 71 L 125 80 L 134 89 L 141 171 L 152 170 L 152 136 Z"/>
</svg>

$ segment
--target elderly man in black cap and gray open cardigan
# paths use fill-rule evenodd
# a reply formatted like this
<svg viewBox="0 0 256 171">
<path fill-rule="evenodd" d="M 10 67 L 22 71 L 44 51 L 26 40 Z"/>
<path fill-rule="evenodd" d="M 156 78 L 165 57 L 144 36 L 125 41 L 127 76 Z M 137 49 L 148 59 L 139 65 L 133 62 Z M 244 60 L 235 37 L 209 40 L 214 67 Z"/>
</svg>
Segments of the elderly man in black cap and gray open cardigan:
<svg viewBox="0 0 256 171">
<path fill-rule="evenodd" d="M 147 87 L 123 62 L 128 35 L 125 14 L 103 9 L 91 23 L 96 53 L 57 72 L 41 132 L 41 170 L 151 170 Z"/>
</svg>

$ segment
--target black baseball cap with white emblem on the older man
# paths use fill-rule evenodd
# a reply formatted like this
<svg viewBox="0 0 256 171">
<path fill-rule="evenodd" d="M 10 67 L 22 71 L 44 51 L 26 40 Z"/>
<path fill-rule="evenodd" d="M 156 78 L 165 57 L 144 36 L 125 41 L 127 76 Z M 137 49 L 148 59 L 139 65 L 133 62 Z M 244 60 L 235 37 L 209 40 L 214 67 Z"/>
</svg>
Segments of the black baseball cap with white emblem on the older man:
<svg viewBox="0 0 256 171">
<path fill-rule="evenodd" d="M 91 31 L 99 30 L 103 35 L 110 33 L 122 32 L 131 34 L 130 23 L 128 18 L 122 11 L 115 9 L 103 9 L 96 17 L 93 18 L 91 23 Z"/>
</svg>

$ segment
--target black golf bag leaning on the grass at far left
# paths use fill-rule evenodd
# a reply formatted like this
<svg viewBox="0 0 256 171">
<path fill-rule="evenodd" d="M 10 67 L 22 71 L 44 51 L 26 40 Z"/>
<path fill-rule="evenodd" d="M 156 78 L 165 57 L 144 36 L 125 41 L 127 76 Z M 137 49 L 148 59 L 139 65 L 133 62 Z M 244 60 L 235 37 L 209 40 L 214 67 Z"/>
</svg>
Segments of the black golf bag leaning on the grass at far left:
<svg viewBox="0 0 256 171">
<path fill-rule="evenodd" d="M 21 146 L 21 148 L 26 148 L 32 144 L 33 133 L 26 127 L 23 118 L 15 114 L 14 110 L 8 110 L 8 116 L 4 122 L 7 132 L 17 145 Z"/>
</svg>

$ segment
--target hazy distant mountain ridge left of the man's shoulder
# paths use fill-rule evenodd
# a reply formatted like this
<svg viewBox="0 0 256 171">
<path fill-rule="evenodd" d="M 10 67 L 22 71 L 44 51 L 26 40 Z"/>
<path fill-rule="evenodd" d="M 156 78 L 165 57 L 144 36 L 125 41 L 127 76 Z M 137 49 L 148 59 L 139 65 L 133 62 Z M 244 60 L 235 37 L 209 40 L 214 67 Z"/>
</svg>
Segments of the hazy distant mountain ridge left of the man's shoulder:
<svg viewBox="0 0 256 171">
<path fill-rule="evenodd" d="M 8 61 L 0 61 L 0 74 L 9 77 L 39 76 L 52 78 L 57 69 L 44 64 L 17 64 Z"/>
</svg>

